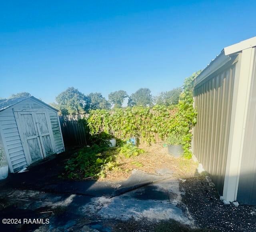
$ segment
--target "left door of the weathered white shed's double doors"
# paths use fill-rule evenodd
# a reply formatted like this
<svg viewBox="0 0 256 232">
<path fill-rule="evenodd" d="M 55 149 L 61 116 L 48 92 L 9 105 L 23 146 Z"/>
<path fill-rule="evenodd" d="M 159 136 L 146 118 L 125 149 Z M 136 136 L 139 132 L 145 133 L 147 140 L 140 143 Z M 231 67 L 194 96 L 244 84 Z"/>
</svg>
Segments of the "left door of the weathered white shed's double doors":
<svg viewBox="0 0 256 232">
<path fill-rule="evenodd" d="M 30 153 L 30 162 L 41 160 L 44 155 L 34 114 L 32 112 L 18 112 L 18 117 L 23 130 L 23 140 L 25 140 L 25 146 Z"/>
</svg>

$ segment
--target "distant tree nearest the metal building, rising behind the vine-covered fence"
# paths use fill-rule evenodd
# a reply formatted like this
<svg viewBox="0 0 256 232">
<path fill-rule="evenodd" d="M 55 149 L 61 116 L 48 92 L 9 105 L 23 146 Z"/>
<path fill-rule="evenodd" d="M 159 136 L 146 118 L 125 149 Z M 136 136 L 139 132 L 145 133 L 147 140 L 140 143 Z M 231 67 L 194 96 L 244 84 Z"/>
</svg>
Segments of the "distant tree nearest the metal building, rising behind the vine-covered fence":
<svg viewBox="0 0 256 232">
<path fill-rule="evenodd" d="M 180 94 L 182 88 L 174 88 L 170 91 L 161 92 L 159 96 L 156 97 L 156 104 L 158 105 L 176 105 L 179 102 Z"/>
</svg>

